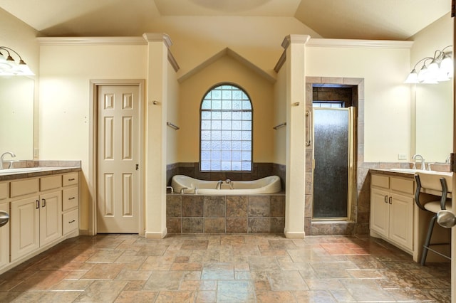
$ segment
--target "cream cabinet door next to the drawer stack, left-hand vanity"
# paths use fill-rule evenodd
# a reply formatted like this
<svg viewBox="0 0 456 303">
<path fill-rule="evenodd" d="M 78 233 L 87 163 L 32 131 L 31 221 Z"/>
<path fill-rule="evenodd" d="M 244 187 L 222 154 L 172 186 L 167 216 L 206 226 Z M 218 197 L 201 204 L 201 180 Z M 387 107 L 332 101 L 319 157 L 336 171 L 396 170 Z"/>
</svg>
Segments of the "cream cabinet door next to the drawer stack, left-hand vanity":
<svg viewBox="0 0 456 303">
<path fill-rule="evenodd" d="M 43 194 L 40 202 L 40 246 L 43 246 L 62 235 L 62 192 Z"/>
</svg>

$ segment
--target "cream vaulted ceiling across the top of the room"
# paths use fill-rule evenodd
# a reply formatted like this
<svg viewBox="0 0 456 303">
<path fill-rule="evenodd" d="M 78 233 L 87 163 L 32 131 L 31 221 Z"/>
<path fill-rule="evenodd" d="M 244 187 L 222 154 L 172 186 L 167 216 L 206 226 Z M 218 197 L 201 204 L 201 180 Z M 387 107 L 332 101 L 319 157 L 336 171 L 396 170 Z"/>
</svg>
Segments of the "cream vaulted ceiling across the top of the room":
<svg viewBox="0 0 456 303">
<path fill-rule="evenodd" d="M 323 38 L 407 40 L 450 13 L 451 0 L 0 0 L 0 8 L 39 36 L 141 36 L 170 17 L 268 16 L 296 18 Z"/>
</svg>

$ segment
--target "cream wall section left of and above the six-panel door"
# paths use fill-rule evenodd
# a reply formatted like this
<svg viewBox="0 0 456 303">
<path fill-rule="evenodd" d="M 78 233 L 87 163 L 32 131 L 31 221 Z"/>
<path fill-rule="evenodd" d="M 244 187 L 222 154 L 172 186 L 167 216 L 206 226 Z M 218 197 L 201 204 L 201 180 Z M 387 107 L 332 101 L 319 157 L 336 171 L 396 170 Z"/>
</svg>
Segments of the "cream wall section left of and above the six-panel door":
<svg viewBox="0 0 456 303">
<path fill-rule="evenodd" d="M 81 160 L 80 228 L 89 228 L 90 80 L 145 79 L 147 46 L 41 46 L 42 160 Z"/>
</svg>

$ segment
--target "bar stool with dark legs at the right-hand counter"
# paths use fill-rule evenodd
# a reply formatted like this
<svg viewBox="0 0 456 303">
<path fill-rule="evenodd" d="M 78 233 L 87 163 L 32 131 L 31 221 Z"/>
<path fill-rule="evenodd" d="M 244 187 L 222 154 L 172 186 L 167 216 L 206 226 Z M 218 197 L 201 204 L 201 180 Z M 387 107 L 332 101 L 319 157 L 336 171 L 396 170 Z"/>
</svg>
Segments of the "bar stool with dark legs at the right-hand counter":
<svg viewBox="0 0 456 303">
<path fill-rule="evenodd" d="M 421 265 L 425 265 L 427 252 L 428 250 L 440 255 L 442 257 L 451 260 L 451 257 L 433 250 L 430 248 L 432 245 L 446 245 L 450 243 L 430 243 L 432 237 L 432 230 L 434 229 L 435 220 L 437 219 L 437 213 L 440 210 L 451 209 L 451 199 L 447 198 L 447 194 L 451 193 L 451 187 L 448 188 L 447 180 L 449 180 L 450 186 L 452 186 L 451 181 L 452 176 L 440 175 L 440 174 L 430 174 L 425 172 L 416 172 L 415 181 L 416 181 L 416 191 L 415 191 L 415 203 L 423 211 L 429 211 L 434 213 L 434 216 L 430 219 L 429 227 L 427 228 L 427 235 L 425 244 L 423 245 L 423 254 L 421 255 Z M 437 181 L 438 180 L 438 181 Z M 440 181 L 440 182 L 439 182 Z M 420 193 L 429 193 L 432 196 L 422 196 Z M 437 200 L 440 196 L 440 200 Z M 431 198 L 432 197 L 432 198 Z"/>
</svg>

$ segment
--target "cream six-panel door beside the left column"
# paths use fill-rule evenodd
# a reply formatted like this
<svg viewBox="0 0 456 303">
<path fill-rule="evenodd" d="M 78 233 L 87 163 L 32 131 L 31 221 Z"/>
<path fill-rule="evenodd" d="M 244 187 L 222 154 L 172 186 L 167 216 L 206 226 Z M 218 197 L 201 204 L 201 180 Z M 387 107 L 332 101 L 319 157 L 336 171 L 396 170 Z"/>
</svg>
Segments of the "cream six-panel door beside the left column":
<svg viewBox="0 0 456 303">
<path fill-rule="evenodd" d="M 139 91 L 98 87 L 98 233 L 139 233 Z"/>
</svg>

